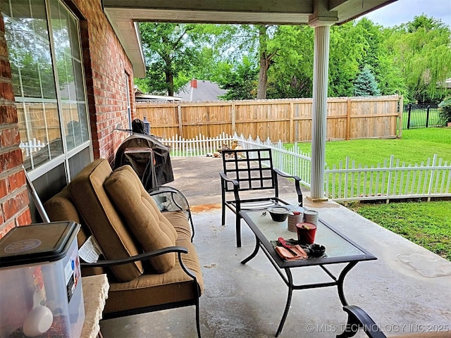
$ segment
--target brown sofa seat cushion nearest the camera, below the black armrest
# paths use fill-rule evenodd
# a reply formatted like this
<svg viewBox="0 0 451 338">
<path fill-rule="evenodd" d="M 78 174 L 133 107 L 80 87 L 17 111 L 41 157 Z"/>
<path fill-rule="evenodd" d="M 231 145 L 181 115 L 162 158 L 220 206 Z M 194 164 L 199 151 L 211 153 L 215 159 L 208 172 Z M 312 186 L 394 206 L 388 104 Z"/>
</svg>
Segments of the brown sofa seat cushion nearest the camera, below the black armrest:
<svg viewBox="0 0 451 338">
<path fill-rule="evenodd" d="M 143 274 L 125 283 L 111 283 L 104 313 L 157 306 L 176 301 L 197 298 L 197 287 L 203 289 L 203 280 L 197 253 L 192 243 L 181 241 L 188 253 L 182 254 L 183 263 L 197 277 L 197 284 L 188 276 L 176 260 L 174 268 L 163 274 Z"/>
</svg>

